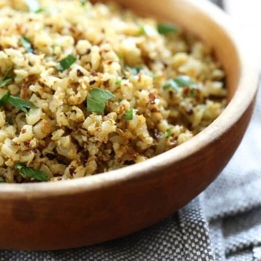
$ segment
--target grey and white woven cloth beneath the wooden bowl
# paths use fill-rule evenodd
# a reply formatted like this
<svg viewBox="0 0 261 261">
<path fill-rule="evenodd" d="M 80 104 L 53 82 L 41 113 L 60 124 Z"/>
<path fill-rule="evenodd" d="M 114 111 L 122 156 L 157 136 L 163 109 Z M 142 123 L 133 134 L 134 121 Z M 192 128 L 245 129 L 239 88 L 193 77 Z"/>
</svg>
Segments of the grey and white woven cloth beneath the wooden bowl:
<svg viewBox="0 0 261 261">
<path fill-rule="evenodd" d="M 246 135 L 222 174 L 158 224 L 89 247 L 0 250 L 0 261 L 261 261 L 260 130 L 261 93 Z"/>
</svg>

